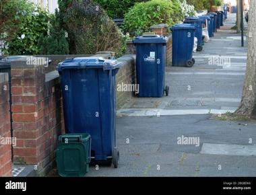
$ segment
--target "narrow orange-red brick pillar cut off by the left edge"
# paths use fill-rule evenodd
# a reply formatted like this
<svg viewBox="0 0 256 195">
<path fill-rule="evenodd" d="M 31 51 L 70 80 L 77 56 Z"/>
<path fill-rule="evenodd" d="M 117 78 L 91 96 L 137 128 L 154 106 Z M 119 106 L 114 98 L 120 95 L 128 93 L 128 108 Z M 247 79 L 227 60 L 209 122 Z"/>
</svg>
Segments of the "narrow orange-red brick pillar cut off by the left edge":
<svg viewBox="0 0 256 195">
<path fill-rule="evenodd" d="M 8 73 L 0 73 L 0 177 L 11 176 L 10 137 Z"/>
</svg>

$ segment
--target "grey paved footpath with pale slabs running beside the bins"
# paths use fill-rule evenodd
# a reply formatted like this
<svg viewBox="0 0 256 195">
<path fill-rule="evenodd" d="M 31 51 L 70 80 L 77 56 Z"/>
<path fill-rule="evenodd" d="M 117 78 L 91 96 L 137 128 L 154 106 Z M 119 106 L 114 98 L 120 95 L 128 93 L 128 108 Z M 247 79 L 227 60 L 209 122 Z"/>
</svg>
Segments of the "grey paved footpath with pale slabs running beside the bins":
<svg viewBox="0 0 256 195">
<path fill-rule="evenodd" d="M 211 118 L 241 101 L 247 48 L 228 17 L 194 67 L 167 68 L 168 97 L 134 97 L 118 110 L 119 168 L 90 167 L 87 176 L 256 176 L 256 122 Z"/>
</svg>

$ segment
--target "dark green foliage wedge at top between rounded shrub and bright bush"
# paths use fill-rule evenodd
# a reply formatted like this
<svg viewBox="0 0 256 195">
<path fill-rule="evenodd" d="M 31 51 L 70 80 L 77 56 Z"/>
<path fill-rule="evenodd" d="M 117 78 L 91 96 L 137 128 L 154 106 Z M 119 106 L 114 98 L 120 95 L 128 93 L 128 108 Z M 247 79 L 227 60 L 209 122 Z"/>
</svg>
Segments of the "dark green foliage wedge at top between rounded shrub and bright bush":
<svg viewBox="0 0 256 195">
<path fill-rule="evenodd" d="M 147 0 L 144 0 L 147 1 Z M 112 18 L 123 18 L 130 7 L 143 0 L 95 0 Z"/>
</svg>

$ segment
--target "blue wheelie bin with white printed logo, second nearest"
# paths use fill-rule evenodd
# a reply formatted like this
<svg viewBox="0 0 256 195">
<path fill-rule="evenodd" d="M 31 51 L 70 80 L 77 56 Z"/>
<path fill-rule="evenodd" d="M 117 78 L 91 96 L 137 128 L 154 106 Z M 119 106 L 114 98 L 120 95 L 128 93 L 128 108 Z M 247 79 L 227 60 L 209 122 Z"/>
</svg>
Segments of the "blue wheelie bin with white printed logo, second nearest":
<svg viewBox="0 0 256 195">
<path fill-rule="evenodd" d="M 133 39 L 136 46 L 136 75 L 139 85 L 138 97 L 162 97 L 164 91 L 169 93 L 165 85 L 166 38 L 148 34 Z"/>
</svg>

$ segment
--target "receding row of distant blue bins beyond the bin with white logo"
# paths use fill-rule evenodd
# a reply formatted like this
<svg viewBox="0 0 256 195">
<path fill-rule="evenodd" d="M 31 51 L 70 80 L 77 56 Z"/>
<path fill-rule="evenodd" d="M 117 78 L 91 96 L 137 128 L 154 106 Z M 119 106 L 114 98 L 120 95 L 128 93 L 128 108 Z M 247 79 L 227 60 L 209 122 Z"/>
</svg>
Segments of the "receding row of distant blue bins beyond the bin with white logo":
<svg viewBox="0 0 256 195">
<path fill-rule="evenodd" d="M 193 50 L 203 50 L 203 45 L 220 26 L 224 26 L 225 11 L 210 12 L 198 17 L 185 17 L 183 24 L 174 24 L 172 31 L 172 66 L 193 67 Z"/>
</svg>

